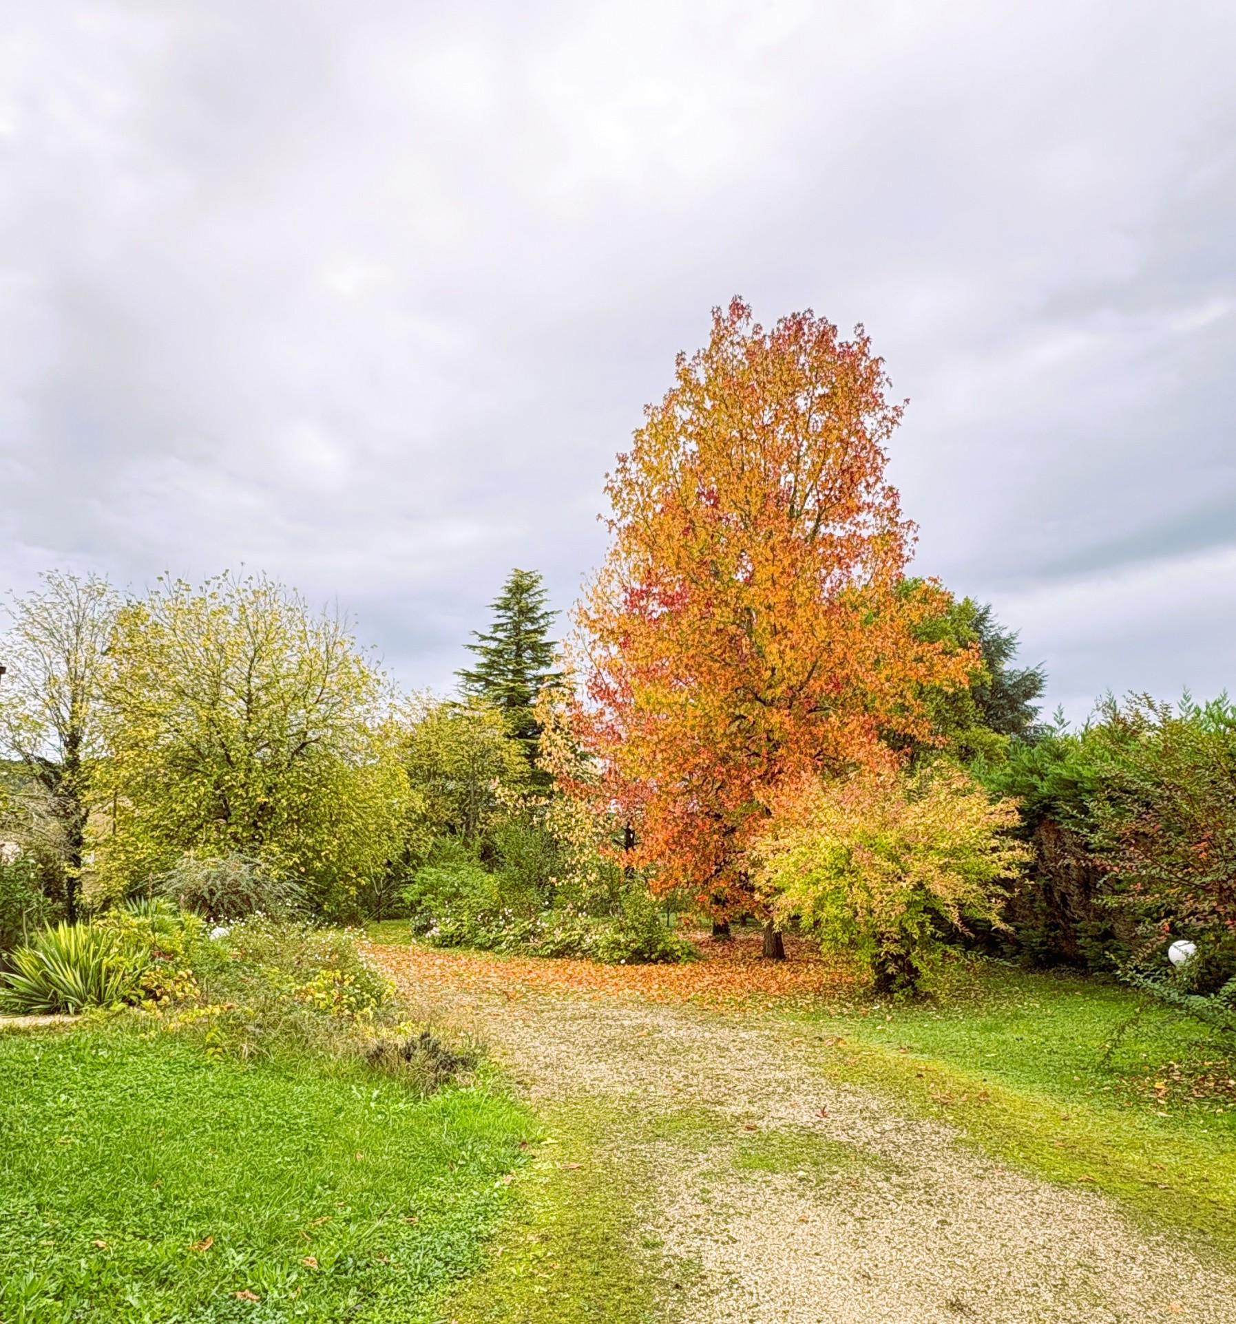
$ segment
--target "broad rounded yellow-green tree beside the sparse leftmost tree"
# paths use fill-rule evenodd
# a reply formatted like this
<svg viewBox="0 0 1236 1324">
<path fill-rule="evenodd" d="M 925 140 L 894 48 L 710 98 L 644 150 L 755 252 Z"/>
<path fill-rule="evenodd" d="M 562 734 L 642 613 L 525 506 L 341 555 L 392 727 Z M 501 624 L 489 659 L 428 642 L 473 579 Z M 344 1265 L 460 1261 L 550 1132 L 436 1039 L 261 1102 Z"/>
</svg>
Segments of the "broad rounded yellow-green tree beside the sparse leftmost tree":
<svg viewBox="0 0 1236 1324">
<path fill-rule="evenodd" d="M 412 796 L 380 674 L 346 622 L 272 580 L 162 583 L 109 647 L 101 886 L 244 855 L 347 916 Z"/>
</svg>

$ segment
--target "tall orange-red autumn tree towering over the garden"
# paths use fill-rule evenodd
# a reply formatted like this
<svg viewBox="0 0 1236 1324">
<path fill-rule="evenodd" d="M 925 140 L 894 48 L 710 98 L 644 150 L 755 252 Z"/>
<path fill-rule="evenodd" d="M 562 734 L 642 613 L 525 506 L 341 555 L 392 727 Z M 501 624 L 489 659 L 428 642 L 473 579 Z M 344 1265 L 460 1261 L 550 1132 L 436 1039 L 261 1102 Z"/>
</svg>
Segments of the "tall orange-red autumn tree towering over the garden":
<svg viewBox="0 0 1236 1324">
<path fill-rule="evenodd" d="M 747 851 L 787 779 L 892 765 L 890 740 L 931 737 L 926 687 L 976 665 L 923 637 L 949 596 L 906 587 L 886 393 L 861 327 L 843 340 L 808 311 L 764 331 L 735 299 L 607 485 L 579 737 L 632 861 L 718 919 L 758 904 Z"/>
</svg>

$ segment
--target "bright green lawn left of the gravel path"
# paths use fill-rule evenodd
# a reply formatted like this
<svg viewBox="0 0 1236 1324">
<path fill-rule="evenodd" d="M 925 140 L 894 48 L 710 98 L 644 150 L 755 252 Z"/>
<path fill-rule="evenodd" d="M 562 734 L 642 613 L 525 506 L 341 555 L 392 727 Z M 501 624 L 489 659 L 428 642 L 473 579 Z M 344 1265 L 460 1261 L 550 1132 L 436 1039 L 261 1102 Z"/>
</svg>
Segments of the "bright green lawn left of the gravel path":
<svg viewBox="0 0 1236 1324">
<path fill-rule="evenodd" d="M 481 1088 L 0 1035 L 0 1319 L 433 1320 L 535 1133 Z"/>
</svg>

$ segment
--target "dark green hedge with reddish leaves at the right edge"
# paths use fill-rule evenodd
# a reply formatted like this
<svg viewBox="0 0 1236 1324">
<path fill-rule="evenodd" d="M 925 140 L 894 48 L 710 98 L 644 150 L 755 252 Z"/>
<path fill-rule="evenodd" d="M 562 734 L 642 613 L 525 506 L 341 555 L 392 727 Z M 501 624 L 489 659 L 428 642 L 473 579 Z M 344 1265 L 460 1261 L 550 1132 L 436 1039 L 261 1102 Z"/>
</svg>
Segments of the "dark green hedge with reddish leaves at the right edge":
<svg viewBox="0 0 1236 1324">
<path fill-rule="evenodd" d="M 1020 801 L 1035 849 L 1004 912 L 1035 964 L 1125 969 L 1168 931 L 1200 951 L 1236 927 L 1236 704 L 1225 698 L 1107 699 L 1081 731 L 1015 744 L 982 775 Z"/>
</svg>

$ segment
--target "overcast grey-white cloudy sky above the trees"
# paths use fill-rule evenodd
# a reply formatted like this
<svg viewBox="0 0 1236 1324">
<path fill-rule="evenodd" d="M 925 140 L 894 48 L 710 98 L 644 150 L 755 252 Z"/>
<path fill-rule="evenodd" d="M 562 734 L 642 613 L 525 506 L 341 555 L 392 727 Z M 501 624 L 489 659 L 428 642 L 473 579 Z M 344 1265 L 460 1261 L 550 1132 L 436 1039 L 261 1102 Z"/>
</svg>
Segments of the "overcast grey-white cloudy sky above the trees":
<svg viewBox="0 0 1236 1324">
<path fill-rule="evenodd" d="M 734 294 L 865 323 L 915 569 L 1236 690 L 1231 0 L 8 0 L 0 587 L 241 564 L 445 687 Z"/>
</svg>

